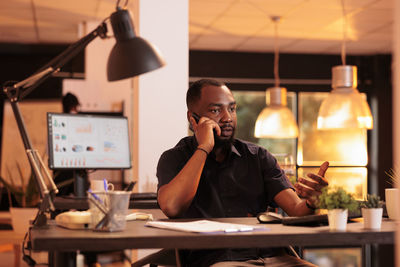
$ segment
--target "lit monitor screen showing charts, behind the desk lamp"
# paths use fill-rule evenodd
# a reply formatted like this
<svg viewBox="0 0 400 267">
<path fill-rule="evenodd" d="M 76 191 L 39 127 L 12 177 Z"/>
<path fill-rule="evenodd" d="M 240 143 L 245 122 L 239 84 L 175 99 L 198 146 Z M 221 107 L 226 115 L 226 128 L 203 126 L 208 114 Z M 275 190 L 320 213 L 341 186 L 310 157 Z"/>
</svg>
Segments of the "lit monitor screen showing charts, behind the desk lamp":
<svg viewBox="0 0 400 267">
<path fill-rule="evenodd" d="M 50 169 L 131 167 L 126 117 L 47 113 Z"/>
</svg>

